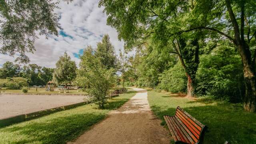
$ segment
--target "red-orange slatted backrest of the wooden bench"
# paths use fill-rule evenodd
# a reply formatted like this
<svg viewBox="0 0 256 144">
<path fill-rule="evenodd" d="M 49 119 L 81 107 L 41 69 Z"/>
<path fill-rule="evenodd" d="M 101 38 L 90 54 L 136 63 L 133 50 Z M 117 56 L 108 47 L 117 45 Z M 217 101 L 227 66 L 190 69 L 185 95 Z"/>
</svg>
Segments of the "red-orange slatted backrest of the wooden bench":
<svg viewBox="0 0 256 144">
<path fill-rule="evenodd" d="M 179 106 L 176 109 L 175 117 L 180 122 L 180 126 L 182 127 L 182 131 L 186 130 L 186 132 L 190 135 L 195 143 L 197 143 L 200 139 L 200 134 L 204 128 L 204 125 L 200 123 L 198 120 L 193 118 L 190 114 L 185 112 Z M 185 132 L 184 132 L 185 134 Z M 186 136 L 187 138 L 189 136 Z M 192 139 L 188 138 L 191 142 Z M 187 140 L 186 140 L 187 141 Z M 191 142 L 193 143 L 193 142 Z"/>
</svg>

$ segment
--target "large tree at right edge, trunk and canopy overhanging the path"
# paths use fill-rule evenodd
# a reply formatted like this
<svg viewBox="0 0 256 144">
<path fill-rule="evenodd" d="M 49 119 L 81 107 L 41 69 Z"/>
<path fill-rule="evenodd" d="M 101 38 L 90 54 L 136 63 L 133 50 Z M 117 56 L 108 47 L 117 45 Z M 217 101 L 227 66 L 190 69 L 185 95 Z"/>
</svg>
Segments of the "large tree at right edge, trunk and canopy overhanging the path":
<svg viewBox="0 0 256 144">
<path fill-rule="evenodd" d="M 100 0 L 99 5 L 108 14 L 107 24 L 116 28 L 128 48 L 141 46 L 148 38 L 162 45 L 183 34 L 196 39 L 193 34 L 200 30 L 210 40 L 218 36 L 231 42 L 243 63 L 244 109 L 256 111 L 255 0 Z"/>
</svg>

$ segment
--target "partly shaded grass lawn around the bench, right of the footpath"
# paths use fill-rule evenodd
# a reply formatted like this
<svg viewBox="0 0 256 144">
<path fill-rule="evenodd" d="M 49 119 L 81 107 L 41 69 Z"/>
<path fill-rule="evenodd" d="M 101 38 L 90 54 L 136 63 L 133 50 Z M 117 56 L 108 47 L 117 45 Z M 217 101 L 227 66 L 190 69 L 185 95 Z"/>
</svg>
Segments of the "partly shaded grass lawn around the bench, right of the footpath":
<svg viewBox="0 0 256 144">
<path fill-rule="evenodd" d="M 163 125 L 163 115 L 174 115 L 177 106 L 180 106 L 208 126 L 204 144 L 224 144 L 225 140 L 231 144 L 256 144 L 256 114 L 244 112 L 241 104 L 214 102 L 206 98 L 189 100 L 153 91 L 148 91 L 148 101 Z"/>
</svg>

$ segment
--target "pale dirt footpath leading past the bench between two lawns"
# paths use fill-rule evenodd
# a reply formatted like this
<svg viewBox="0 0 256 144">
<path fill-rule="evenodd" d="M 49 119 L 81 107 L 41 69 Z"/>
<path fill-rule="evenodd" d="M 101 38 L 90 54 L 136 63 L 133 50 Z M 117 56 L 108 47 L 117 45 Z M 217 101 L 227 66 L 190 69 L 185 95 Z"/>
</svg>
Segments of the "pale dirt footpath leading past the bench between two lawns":
<svg viewBox="0 0 256 144">
<path fill-rule="evenodd" d="M 110 116 L 68 144 L 169 144 L 170 137 L 160 126 L 148 104 L 146 90 L 140 91 Z"/>
</svg>

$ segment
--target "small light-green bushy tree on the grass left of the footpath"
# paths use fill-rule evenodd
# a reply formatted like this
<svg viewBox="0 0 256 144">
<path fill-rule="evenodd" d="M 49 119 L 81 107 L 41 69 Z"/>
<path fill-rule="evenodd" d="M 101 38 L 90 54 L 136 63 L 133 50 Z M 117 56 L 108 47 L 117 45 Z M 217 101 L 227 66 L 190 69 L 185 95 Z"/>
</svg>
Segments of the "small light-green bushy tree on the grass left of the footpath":
<svg viewBox="0 0 256 144">
<path fill-rule="evenodd" d="M 80 85 L 88 86 L 86 92 L 91 96 L 92 101 L 96 102 L 99 108 L 104 108 L 108 90 L 114 86 L 114 69 L 107 69 L 100 58 L 92 54 L 91 47 L 84 50 L 84 55 L 81 56 L 77 80 Z"/>
</svg>

